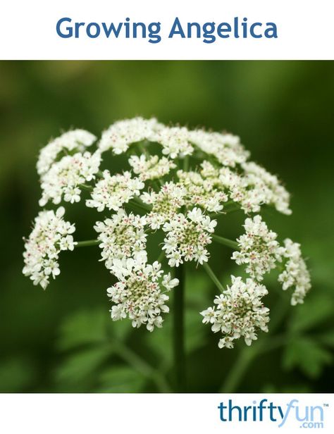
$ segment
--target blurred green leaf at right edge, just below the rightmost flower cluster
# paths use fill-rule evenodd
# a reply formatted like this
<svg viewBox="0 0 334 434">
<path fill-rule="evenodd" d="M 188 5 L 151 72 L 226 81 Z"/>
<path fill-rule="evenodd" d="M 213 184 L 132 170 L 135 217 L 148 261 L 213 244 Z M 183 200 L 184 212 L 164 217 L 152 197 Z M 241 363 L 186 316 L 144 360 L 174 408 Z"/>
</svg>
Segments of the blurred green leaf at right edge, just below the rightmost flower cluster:
<svg viewBox="0 0 334 434">
<path fill-rule="evenodd" d="M 307 299 L 304 304 L 295 307 L 295 316 L 291 321 L 291 330 L 301 332 L 310 330 L 333 317 L 333 299 L 318 294 Z"/>
</svg>

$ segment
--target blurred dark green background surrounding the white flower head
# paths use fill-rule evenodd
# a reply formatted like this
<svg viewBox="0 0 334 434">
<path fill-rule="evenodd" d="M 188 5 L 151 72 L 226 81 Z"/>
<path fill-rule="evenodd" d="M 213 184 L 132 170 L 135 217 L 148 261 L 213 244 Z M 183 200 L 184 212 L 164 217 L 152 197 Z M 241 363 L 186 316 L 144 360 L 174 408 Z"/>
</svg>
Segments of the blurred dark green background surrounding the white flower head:
<svg viewBox="0 0 334 434">
<path fill-rule="evenodd" d="M 1 62 L 0 391 L 168 390 L 173 312 L 154 333 L 113 323 L 106 297 L 113 279 L 97 247 L 63 254 L 61 275 L 45 292 L 21 273 L 22 237 L 38 212 L 40 147 L 62 130 L 99 136 L 115 120 L 140 115 L 240 135 L 252 159 L 292 193 L 292 216 L 264 218 L 302 243 L 311 269 L 313 289 L 295 308 L 267 280 L 273 333 L 259 333 L 254 347 L 221 350 L 198 314 L 216 290 L 190 268 L 187 390 L 333 392 L 333 101 L 333 62 Z M 94 214 L 81 205 L 67 213 L 78 240 L 94 237 Z M 240 235 L 241 216 L 223 221 L 221 235 Z M 228 249 L 211 254 L 223 282 L 238 273 Z"/>
</svg>

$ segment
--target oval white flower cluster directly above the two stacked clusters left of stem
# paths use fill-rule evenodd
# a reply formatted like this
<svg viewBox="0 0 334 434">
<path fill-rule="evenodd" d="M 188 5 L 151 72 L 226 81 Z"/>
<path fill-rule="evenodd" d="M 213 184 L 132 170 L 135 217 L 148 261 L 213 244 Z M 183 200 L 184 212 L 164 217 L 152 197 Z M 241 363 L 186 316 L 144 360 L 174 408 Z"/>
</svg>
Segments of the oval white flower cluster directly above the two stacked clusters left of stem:
<svg viewBox="0 0 334 434">
<path fill-rule="evenodd" d="M 105 208 L 118 211 L 123 204 L 140 195 L 144 188 L 144 182 L 138 178 L 132 178 L 130 172 L 123 175 L 111 176 L 109 171 L 104 171 L 103 178 L 97 182 L 92 191 L 92 199 L 86 201 L 86 205 L 104 211 Z"/>
</svg>

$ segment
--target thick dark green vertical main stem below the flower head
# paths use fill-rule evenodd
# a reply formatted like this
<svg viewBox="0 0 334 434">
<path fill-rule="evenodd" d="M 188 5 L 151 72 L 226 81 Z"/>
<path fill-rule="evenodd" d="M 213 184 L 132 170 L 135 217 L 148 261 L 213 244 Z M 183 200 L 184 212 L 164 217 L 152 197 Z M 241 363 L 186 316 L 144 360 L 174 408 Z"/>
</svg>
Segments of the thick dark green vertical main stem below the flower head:
<svg viewBox="0 0 334 434">
<path fill-rule="evenodd" d="M 185 392 L 185 265 L 180 264 L 176 268 L 175 277 L 179 284 L 174 292 L 173 300 L 173 350 L 174 350 L 174 375 L 175 392 Z"/>
</svg>

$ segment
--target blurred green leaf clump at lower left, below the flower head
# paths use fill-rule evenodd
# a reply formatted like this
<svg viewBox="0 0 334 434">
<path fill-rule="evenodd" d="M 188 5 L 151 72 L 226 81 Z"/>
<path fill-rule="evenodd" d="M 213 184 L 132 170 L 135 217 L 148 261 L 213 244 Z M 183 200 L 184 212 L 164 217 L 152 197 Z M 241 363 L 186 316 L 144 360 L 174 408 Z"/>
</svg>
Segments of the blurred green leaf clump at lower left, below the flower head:
<svg viewBox="0 0 334 434">
<path fill-rule="evenodd" d="M 57 342 L 58 349 L 66 352 L 56 370 L 57 388 L 130 392 L 132 386 L 141 387 L 145 378 L 139 381 L 135 370 L 113 360 L 130 330 L 128 321 L 113 323 L 102 308 L 78 311 L 66 318 Z"/>
</svg>

